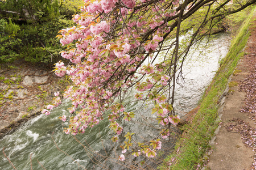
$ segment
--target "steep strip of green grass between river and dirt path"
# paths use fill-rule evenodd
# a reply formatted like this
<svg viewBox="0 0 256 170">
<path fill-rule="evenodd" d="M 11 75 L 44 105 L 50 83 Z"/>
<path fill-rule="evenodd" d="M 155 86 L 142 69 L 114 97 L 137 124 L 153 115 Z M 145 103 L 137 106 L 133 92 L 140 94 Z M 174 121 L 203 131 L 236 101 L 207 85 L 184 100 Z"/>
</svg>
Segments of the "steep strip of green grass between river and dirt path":
<svg viewBox="0 0 256 170">
<path fill-rule="evenodd" d="M 211 149 L 209 141 L 218 126 L 216 123 L 218 100 L 224 92 L 228 79 L 236 68 L 239 59 L 244 54 L 242 50 L 250 36 L 248 28 L 254 9 L 255 6 L 242 24 L 236 38 L 232 40 L 229 53 L 222 59 L 220 69 L 205 91 L 192 122 L 182 127 L 184 133 L 176 144 L 176 150 L 164 161 L 163 166 L 166 169 L 196 169 L 197 167 L 201 169 L 203 164 L 207 162 L 206 153 Z"/>
</svg>

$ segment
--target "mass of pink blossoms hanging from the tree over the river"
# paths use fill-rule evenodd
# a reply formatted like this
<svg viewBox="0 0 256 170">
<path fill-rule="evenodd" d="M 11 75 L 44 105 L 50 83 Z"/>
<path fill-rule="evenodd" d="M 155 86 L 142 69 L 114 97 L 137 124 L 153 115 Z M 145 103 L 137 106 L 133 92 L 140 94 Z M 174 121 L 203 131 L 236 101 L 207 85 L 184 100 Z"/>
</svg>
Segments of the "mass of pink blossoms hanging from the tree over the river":
<svg viewBox="0 0 256 170">
<path fill-rule="evenodd" d="M 65 133 L 76 135 L 84 133 L 86 128 L 92 128 L 104 119 L 106 111 L 110 110 L 108 120 L 110 128 L 119 135 L 123 131 L 122 120 L 129 121 L 134 116 L 126 113 L 122 103 L 115 99 L 125 96 L 126 92 L 136 83 L 137 90 L 142 92 L 158 91 L 159 87 L 170 83 L 170 77 L 164 73 L 166 63 L 153 64 L 142 67 L 145 57 L 152 59 L 154 51 L 162 42 L 164 33 L 170 31 L 166 17 L 176 15 L 174 10 L 160 8 L 171 3 L 168 1 L 154 2 L 148 5 L 148 0 L 84 0 L 81 14 L 74 16 L 77 24 L 71 28 L 60 31 L 60 43 L 69 48 L 61 52 L 61 56 L 68 59 L 71 65 L 65 66 L 63 62 L 56 63 L 55 74 L 67 74 L 73 85 L 64 93 L 64 98 L 72 100 L 69 108 L 69 126 Z M 179 1 L 173 1 L 178 5 Z M 145 7 L 143 7 L 145 5 Z M 147 5 L 147 6 L 146 6 Z M 137 8 L 140 6 L 141 8 Z M 168 6 L 168 5 L 167 5 Z M 144 12 L 144 11 L 152 11 Z M 141 14 L 144 15 L 141 15 Z M 152 16 L 151 16 L 152 15 Z M 129 19 L 129 20 L 128 20 Z M 144 37 L 152 31 L 152 37 Z M 143 63 L 144 64 L 144 63 Z M 152 78 L 139 82 L 139 77 L 147 75 Z M 61 103 L 59 93 L 52 105 L 48 105 L 42 113 L 49 114 L 53 107 Z M 139 94 L 136 99 L 146 100 L 147 95 Z M 163 103 L 163 96 L 152 97 L 156 103 Z M 78 109 L 80 108 L 80 109 Z M 176 124 L 179 117 L 168 115 L 170 110 L 160 108 L 158 117 L 162 118 L 160 124 Z M 66 121 L 67 117 L 60 117 Z M 119 123 L 118 123 L 119 122 Z M 162 138 L 170 135 L 164 131 Z M 162 147 L 160 141 L 156 150 Z M 142 152 L 152 158 L 156 155 L 154 149 L 148 148 Z M 149 154 L 151 153 L 151 155 Z M 123 153 L 124 154 L 124 153 Z M 141 155 L 138 151 L 136 155 Z M 120 155 L 119 160 L 125 160 Z"/>
</svg>

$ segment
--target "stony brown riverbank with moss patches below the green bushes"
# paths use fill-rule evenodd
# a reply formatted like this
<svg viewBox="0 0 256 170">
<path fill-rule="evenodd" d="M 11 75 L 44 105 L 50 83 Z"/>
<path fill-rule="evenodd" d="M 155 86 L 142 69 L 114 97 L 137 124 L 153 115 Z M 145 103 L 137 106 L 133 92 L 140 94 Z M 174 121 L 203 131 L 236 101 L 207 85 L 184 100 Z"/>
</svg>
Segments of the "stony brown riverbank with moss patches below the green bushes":
<svg viewBox="0 0 256 170">
<path fill-rule="evenodd" d="M 63 91 L 67 83 L 44 66 L 20 61 L 0 65 L 0 138 L 41 114 L 53 93 Z"/>
</svg>

